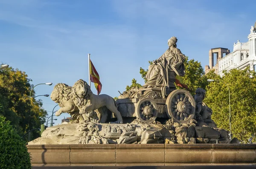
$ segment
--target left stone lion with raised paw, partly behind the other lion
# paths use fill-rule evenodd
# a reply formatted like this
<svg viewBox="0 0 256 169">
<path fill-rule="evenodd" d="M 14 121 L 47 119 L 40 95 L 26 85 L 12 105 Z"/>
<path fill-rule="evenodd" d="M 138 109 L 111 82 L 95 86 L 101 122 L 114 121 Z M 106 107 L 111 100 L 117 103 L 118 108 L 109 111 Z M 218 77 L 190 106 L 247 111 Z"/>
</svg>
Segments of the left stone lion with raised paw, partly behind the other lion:
<svg viewBox="0 0 256 169">
<path fill-rule="evenodd" d="M 55 103 L 58 103 L 58 105 L 61 107 L 55 113 L 56 116 L 66 112 L 71 115 L 74 123 L 79 123 L 80 121 L 83 121 L 83 117 L 81 117 L 79 114 L 78 107 L 75 105 L 73 100 L 71 100 L 71 89 L 71 86 L 68 86 L 64 83 L 58 83 L 54 86 L 54 89 L 51 93 L 51 99 Z"/>
</svg>

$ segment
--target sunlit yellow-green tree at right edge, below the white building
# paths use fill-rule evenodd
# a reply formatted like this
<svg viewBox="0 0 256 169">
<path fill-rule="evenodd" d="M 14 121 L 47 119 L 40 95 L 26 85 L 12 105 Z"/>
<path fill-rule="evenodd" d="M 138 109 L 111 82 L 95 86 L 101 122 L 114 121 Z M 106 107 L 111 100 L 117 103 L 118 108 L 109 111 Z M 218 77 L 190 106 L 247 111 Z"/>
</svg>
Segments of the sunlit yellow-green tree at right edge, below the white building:
<svg viewBox="0 0 256 169">
<path fill-rule="evenodd" d="M 208 74 L 206 76 L 209 77 Z M 247 67 L 244 70 L 225 71 L 222 77 L 207 86 L 204 102 L 212 109 L 212 120 L 219 128 L 229 130 L 229 91 L 231 103 L 232 133 L 242 143 L 256 133 L 256 73 Z M 219 80 L 219 81 L 217 81 Z M 253 141 L 256 141 L 253 138 Z"/>
</svg>

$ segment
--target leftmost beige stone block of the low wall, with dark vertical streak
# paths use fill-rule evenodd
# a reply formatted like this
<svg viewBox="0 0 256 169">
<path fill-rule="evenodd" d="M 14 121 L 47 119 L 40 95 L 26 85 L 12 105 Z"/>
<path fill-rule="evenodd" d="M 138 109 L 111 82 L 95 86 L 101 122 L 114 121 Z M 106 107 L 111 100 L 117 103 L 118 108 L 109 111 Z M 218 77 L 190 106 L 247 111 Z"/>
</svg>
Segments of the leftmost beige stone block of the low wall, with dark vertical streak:
<svg viewBox="0 0 256 169">
<path fill-rule="evenodd" d="M 69 145 L 27 145 L 28 152 L 31 155 L 32 165 L 41 166 L 41 164 L 52 164 L 58 166 L 70 163 L 70 146 Z"/>
</svg>

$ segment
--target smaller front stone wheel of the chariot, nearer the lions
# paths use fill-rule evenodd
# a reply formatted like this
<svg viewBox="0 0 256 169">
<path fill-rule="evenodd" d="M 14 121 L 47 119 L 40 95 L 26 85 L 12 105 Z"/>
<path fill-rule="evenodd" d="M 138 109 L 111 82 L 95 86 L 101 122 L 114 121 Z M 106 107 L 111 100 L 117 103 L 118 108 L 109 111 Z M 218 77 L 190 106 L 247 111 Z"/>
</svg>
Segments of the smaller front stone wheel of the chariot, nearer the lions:
<svg viewBox="0 0 256 169">
<path fill-rule="evenodd" d="M 135 115 L 141 122 L 153 122 L 157 118 L 157 113 L 157 103 L 151 98 L 140 99 L 135 106 Z"/>
</svg>

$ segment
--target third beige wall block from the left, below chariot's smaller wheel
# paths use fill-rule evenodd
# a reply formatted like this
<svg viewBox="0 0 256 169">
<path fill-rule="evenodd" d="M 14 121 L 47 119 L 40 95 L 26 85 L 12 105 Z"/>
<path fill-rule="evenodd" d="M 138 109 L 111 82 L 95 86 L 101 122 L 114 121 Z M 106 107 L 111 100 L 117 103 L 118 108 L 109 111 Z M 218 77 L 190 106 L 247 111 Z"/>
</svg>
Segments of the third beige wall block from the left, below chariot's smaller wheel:
<svg viewBox="0 0 256 169">
<path fill-rule="evenodd" d="M 116 163 L 164 163 L 164 144 L 117 144 Z"/>
</svg>

